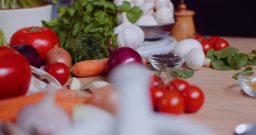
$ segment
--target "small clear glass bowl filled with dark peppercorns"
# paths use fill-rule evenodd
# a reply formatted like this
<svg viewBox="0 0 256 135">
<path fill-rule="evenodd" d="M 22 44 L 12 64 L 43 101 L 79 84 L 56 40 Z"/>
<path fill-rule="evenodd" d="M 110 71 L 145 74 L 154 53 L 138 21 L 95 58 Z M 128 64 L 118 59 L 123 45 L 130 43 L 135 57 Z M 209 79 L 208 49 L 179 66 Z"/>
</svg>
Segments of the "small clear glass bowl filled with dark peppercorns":
<svg viewBox="0 0 256 135">
<path fill-rule="evenodd" d="M 184 56 L 178 56 L 177 58 L 157 58 L 153 57 L 153 55 L 161 55 L 161 54 L 173 54 L 173 51 L 156 51 L 151 52 L 148 55 L 148 61 L 152 64 L 152 66 L 158 71 L 174 71 L 174 68 L 180 68 L 182 64 L 185 62 Z"/>
</svg>

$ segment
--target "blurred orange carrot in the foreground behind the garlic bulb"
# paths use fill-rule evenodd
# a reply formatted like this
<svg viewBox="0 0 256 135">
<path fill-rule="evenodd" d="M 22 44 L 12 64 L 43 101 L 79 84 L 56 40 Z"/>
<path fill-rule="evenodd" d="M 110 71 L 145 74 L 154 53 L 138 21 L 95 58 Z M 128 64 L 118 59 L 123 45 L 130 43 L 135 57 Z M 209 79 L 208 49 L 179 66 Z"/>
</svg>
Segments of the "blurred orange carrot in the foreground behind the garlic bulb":
<svg viewBox="0 0 256 135">
<path fill-rule="evenodd" d="M 45 93 L 36 93 L 30 96 L 19 96 L 0 100 L 0 121 L 15 121 L 21 109 L 41 101 L 44 94 Z M 72 113 L 74 106 L 85 103 L 86 100 L 87 97 L 77 97 L 73 93 L 73 90 L 58 90 L 56 92 L 56 104 L 69 114 Z"/>
</svg>

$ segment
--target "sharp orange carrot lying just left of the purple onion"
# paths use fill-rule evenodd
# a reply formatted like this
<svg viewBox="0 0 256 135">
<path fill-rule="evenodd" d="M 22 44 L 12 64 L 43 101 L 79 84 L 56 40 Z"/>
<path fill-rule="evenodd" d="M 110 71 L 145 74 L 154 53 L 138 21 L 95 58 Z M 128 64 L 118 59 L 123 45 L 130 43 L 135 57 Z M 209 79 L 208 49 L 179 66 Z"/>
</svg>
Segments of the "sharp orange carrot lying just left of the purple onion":
<svg viewBox="0 0 256 135">
<path fill-rule="evenodd" d="M 108 58 L 87 60 L 76 63 L 72 73 L 78 77 L 92 77 L 107 73 Z"/>
</svg>

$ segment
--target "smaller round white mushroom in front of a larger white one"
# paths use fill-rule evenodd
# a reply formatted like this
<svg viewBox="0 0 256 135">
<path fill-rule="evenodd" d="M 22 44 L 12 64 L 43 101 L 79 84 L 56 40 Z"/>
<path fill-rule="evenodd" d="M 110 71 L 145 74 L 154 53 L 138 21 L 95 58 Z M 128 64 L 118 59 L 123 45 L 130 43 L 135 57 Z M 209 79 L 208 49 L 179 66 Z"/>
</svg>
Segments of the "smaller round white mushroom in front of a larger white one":
<svg viewBox="0 0 256 135">
<path fill-rule="evenodd" d="M 187 67 L 198 70 L 203 67 L 205 55 L 201 48 L 194 48 L 187 53 L 185 60 Z"/>
</svg>

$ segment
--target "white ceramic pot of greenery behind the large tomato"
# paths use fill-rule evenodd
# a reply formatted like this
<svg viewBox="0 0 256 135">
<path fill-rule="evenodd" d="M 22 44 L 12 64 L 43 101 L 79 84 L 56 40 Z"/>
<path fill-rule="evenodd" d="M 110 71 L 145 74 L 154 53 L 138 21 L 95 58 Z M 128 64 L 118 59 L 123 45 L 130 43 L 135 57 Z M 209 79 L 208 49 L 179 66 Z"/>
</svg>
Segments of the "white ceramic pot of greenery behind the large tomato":
<svg viewBox="0 0 256 135">
<path fill-rule="evenodd" d="M 6 35 L 7 42 L 10 43 L 13 33 L 18 29 L 42 26 L 42 20 L 51 20 L 52 10 L 52 4 L 30 8 L 0 10 L 0 28 Z"/>
</svg>

